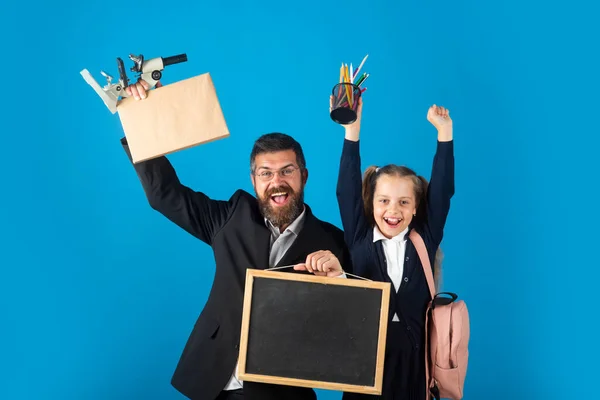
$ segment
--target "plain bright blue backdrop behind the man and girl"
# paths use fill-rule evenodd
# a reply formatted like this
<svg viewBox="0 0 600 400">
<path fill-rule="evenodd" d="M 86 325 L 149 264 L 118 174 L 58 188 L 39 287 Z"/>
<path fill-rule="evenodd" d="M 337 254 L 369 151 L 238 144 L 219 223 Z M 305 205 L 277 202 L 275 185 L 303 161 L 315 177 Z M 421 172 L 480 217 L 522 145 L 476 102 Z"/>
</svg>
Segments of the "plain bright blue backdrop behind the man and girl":
<svg viewBox="0 0 600 400">
<path fill-rule="evenodd" d="M 369 54 L 364 167 L 428 176 L 451 110 L 445 288 L 471 313 L 465 399 L 567 399 L 597 378 L 598 6 L 580 1 L 11 2 L 3 6 L 0 399 L 181 399 L 170 378 L 214 275 L 211 249 L 148 206 L 79 71 L 187 53 L 231 137 L 170 157 L 214 198 L 252 190 L 252 142 L 303 144 L 307 202 L 339 226 L 341 62 Z M 102 83 L 103 84 L 103 83 Z M 295 95 L 288 95 L 293 91 Z M 339 399 L 319 391 L 320 399 Z"/>
</svg>

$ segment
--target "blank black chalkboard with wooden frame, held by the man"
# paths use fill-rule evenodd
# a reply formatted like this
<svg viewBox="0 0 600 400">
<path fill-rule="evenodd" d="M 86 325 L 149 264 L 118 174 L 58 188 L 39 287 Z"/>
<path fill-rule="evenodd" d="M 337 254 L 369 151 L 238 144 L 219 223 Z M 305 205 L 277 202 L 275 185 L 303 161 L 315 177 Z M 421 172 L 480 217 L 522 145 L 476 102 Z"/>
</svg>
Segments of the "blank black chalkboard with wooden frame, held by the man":
<svg viewBox="0 0 600 400">
<path fill-rule="evenodd" d="M 390 284 L 248 269 L 239 376 L 381 394 Z"/>
</svg>

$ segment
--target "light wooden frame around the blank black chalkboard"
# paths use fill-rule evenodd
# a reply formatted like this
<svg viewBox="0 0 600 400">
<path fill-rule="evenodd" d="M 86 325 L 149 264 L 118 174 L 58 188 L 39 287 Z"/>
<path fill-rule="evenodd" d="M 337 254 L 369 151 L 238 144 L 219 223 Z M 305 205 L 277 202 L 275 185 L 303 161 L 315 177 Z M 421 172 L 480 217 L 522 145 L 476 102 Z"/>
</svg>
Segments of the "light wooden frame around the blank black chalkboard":
<svg viewBox="0 0 600 400">
<path fill-rule="evenodd" d="M 257 375 L 246 373 L 246 355 L 248 350 L 248 332 L 250 328 L 250 314 L 253 297 L 253 283 L 255 278 L 283 279 L 299 282 L 311 282 L 326 285 L 344 285 L 381 290 L 381 312 L 379 318 L 379 335 L 377 344 L 377 358 L 375 368 L 375 379 L 373 386 L 351 385 L 347 383 L 336 383 L 316 380 L 305 380 L 288 377 L 276 377 L 271 375 Z M 297 274 L 289 272 L 276 272 L 258 269 L 246 270 L 246 286 L 244 291 L 244 306 L 242 315 L 242 328 L 240 334 L 240 351 L 238 363 L 238 375 L 240 380 L 249 382 L 271 383 L 277 385 L 309 387 L 314 389 L 338 390 L 344 392 L 381 395 L 383 384 L 383 367 L 385 358 L 385 344 L 388 326 L 388 311 L 390 299 L 390 284 L 387 282 L 374 282 L 358 279 L 329 278 L 309 274 Z"/>
</svg>

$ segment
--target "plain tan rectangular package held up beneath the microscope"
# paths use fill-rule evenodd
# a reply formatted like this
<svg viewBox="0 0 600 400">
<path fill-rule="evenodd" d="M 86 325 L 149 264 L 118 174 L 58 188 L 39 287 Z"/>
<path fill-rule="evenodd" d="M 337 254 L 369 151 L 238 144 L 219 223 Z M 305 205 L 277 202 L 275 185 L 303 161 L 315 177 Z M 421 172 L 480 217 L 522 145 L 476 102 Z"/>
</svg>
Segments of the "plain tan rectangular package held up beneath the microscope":
<svg viewBox="0 0 600 400">
<path fill-rule="evenodd" d="M 229 136 L 210 74 L 119 102 L 117 111 L 134 163 Z"/>
</svg>

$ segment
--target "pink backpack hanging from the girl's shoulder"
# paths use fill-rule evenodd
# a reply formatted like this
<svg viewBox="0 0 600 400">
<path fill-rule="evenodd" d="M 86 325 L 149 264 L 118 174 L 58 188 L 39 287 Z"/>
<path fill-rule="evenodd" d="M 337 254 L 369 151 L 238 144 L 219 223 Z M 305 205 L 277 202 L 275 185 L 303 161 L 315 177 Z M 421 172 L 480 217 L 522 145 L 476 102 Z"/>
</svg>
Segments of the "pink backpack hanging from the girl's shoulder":
<svg viewBox="0 0 600 400">
<path fill-rule="evenodd" d="M 436 294 L 431 263 L 423 238 L 413 229 L 410 233 L 425 270 L 432 301 L 425 322 L 425 373 L 427 400 L 463 398 L 469 361 L 469 312 L 464 301 L 449 292 Z M 444 297 L 441 295 L 448 295 Z"/>
</svg>

